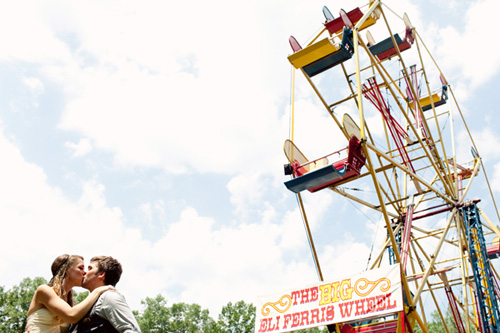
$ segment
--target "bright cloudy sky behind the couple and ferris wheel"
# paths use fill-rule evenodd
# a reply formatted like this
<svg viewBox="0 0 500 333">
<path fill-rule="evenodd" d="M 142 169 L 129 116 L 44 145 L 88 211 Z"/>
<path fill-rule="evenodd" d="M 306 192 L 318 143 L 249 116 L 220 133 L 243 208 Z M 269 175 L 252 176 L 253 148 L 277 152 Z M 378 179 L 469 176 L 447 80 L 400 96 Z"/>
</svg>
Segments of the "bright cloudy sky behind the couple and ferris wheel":
<svg viewBox="0 0 500 333">
<path fill-rule="evenodd" d="M 0 285 L 50 279 L 62 253 L 111 255 L 134 310 L 161 294 L 217 316 L 317 281 L 282 147 L 288 37 L 318 33 L 323 5 L 365 3 L 0 0 Z M 447 75 L 498 195 L 500 4 L 384 5 Z M 310 86 L 295 89 L 296 142 L 341 148 Z M 498 224 L 484 182 L 471 195 Z M 381 217 L 330 191 L 304 201 L 325 277 L 366 269 Z"/>
</svg>

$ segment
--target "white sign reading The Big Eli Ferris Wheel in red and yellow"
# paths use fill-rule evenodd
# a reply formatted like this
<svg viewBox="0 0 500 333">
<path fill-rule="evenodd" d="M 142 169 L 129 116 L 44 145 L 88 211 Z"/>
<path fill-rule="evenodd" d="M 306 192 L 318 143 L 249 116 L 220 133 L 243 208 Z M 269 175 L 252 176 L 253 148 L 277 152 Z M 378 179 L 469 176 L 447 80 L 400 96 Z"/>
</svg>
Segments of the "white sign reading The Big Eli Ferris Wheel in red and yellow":
<svg viewBox="0 0 500 333">
<path fill-rule="evenodd" d="M 255 332 L 289 332 L 403 310 L 400 266 L 261 296 Z"/>
</svg>

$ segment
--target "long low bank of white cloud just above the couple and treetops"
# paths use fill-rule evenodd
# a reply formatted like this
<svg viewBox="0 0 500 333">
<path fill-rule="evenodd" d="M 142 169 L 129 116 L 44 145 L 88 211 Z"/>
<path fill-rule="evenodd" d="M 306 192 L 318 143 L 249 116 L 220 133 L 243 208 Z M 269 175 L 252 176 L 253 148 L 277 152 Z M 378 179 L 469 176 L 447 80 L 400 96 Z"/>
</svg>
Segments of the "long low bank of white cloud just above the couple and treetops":
<svg viewBox="0 0 500 333">
<path fill-rule="evenodd" d="M 303 275 L 286 278 L 291 268 L 283 260 L 284 251 L 298 246 L 307 253 L 307 248 L 303 241 L 282 247 L 289 228 L 281 225 L 272 207 L 263 212 L 264 223 L 232 227 L 216 225 L 213 218 L 186 207 L 179 221 L 151 243 L 125 225 L 119 208 L 108 206 L 102 184 L 82 183 L 81 196 L 71 201 L 49 186 L 43 170 L 27 163 L 3 136 L 0 148 L 8 161 L 0 166 L 5 189 L 0 191 L 0 214 L 10 221 L 1 237 L 0 270 L 14 272 L 3 274 L 7 287 L 26 276 L 49 278 L 51 260 L 62 252 L 82 254 L 87 260 L 105 254 L 122 261 L 125 273 L 119 288 L 134 308 L 139 309 L 141 299 L 162 293 L 169 302 L 197 303 L 214 312 L 229 300 L 252 302 L 266 289 L 263 281 L 278 287 L 281 278 Z M 141 209 L 148 216 L 160 212 L 162 205 L 144 204 Z M 295 234 L 302 235 L 298 227 Z"/>
</svg>

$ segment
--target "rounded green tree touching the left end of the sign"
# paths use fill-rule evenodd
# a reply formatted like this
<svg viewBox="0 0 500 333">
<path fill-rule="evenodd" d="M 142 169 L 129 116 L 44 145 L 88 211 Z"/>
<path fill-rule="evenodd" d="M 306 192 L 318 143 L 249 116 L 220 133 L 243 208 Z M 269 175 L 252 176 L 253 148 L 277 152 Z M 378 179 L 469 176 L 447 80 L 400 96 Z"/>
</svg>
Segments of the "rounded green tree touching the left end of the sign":
<svg viewBox="0 0 500 333">
<path fill-rule="evenodd" d="M 218 328 L 221 332 L 251 333 L 255 330 L 255 306 L 239 301 L 229 302 L 219 314 Z"/>
</svg>

